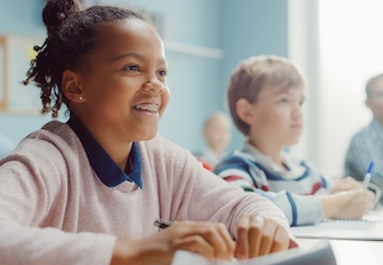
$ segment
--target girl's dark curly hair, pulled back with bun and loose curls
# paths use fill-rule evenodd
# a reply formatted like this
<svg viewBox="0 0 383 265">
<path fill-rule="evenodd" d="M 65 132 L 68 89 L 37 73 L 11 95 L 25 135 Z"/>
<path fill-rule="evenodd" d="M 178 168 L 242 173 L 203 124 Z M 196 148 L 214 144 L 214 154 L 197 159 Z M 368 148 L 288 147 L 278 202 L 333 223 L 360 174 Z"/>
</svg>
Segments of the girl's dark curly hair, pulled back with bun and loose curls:
<svg viewBox="0 0 383 265">
<path fill-rule="evenodd" d="M 32 80 L 40 88 L 42 114 L 51 112 L 56 118 L 62 103 L 68 106 L 68 99 L 61 92 L 63 71 L 85 67 L 88 56 L 100 44 L 102 25 L 125 19 L 152 24 L 143 12 L 132 9 L 95 5 L 82 10 L 77 0 L 47 1 L 43 10 L 47 38 L 42 46 L 34 47 L 38 54 L 31 60 L 24 80 L 25 85 Z"/>
</svg>

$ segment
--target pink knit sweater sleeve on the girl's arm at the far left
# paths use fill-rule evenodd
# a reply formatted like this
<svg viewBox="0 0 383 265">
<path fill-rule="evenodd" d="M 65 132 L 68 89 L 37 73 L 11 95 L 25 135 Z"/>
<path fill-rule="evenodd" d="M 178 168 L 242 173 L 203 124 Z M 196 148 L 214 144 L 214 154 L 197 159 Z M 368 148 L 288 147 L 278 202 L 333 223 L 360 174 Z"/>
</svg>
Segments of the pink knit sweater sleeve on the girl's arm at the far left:
<svg viewBox="0 0 383 265">
<path fill-rule="evenodd" d="M 44 135 L 40 131 L 37 138 L 49 138 Z M 55 207 L 69 199 L 62 185 L 68 180 L 60 177 L 69 169 L 55 145 L 37 138 L 26 138 L 0 161 L 0 263 L 109 264 L 115 237 L 63 232 L 65 216 L 56 228 L 44 224 L 50 215 L 70 215 L 71 209 Z"/>
</svg>

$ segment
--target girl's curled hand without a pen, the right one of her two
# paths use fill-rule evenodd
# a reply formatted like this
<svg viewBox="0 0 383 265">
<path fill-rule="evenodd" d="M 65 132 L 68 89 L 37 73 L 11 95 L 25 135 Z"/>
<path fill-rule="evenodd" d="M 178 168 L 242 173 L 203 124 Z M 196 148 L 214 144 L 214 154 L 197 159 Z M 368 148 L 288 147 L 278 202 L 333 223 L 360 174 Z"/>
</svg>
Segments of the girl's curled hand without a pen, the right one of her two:
<svg viewBox="0 0 383 265">
<path fill-rule="evenodd" d="M 236 222 L 235 256 L 246 260 L 289 247 L 288 231 L 272 219 L 260 215 L 245 215 Z"/>
</svg>

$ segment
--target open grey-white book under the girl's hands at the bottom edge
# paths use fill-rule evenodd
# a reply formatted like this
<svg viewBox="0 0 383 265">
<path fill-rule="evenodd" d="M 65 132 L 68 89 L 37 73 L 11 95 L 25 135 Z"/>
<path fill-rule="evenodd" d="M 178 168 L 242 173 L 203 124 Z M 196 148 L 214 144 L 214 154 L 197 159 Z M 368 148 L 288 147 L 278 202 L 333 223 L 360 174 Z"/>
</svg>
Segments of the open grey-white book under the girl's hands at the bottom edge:
<svg viewBox="0 0 383 265">
<path fill-rule="evenodd" d="M 306 249 L 291 249 L 285 252 L 251 258 L 247 261 L 209 262 L 198 254 L 178 251 L 172 265 L 336 265 L 332 245 L 321 240 Z"/>
</svg>

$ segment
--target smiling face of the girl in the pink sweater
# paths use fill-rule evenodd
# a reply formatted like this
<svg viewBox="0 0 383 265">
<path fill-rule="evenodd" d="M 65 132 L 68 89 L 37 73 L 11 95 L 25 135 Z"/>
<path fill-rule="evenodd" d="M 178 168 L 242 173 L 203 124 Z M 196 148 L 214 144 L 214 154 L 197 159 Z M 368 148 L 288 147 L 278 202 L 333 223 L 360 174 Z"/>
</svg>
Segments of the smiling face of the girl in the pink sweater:
<svg viewBox="0 0 383 265">
<path fill-rule="evenodd" d="M 170 101 L 162 41 L 140 20 L 104 28 L 98 48 L 80 72 L 83 100 L 77 114 L 96 138 L 151 139 Z"/>
</svg>

